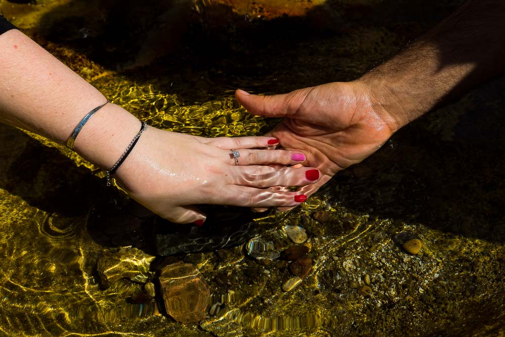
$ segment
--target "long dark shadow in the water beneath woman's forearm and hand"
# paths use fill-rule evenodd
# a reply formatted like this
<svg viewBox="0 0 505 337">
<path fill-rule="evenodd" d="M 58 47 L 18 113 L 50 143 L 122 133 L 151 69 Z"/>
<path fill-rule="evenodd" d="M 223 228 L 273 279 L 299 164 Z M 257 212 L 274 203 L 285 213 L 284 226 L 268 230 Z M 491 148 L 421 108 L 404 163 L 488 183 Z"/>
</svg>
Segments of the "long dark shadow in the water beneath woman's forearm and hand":
<svg viewBox="0 0 505 337">
<path fill-rule="evenodd" d="M 175 224 L 126 199 L 88 169 L 76 167 L 24 132 L 1 124 L 0 135 L 2 151 L 19 149 L 15 158 L 2 155 L 0 188 L 39 210 L 58 214 L 57 227 L 87 218 L 89 234 L 103 247 L 132 246 L 150 255 L 173 255 L 233 247 L 257 234 L 252 220 L 259 215 L 248 208 L 202 205 L 209 217 L 205 226 Z M 51 231 L 50 225 L 42 225 Z"/>
</svg>

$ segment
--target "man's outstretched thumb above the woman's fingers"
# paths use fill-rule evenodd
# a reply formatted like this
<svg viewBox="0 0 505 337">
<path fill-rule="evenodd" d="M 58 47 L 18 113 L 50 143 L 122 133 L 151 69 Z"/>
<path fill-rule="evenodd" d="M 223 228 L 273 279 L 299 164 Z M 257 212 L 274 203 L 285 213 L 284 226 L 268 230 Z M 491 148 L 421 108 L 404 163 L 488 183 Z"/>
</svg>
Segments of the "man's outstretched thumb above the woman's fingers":
<svg viewBox="0 0 505 337">
<path fill-rule="evenodd" d="M 264 117 L 286 117 L 294 114 L 307 96 L 302 90 L 271 96 L 259 96 L 237 89 L 235 97 L 247 111 Z M 303 97 L 301 100 L 301 96 Z"/>
</svg>

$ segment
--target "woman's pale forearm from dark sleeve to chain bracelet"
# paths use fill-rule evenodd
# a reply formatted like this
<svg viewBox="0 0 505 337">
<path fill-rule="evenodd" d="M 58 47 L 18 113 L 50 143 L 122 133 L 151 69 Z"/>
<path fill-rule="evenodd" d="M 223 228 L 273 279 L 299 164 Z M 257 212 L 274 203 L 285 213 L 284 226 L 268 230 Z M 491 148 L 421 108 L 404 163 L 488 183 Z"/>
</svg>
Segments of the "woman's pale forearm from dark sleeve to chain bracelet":
<svg viewBox="0 0 505 337">
<path fill-rule="evenodd" d="M 0 35 L 0 120 L 66 143 L 79 121 L 107 99 L 19 30 Z M 74 149 L 102 168 L 121 156 L 140 122 L 108 104 L 84 125 Z"/>
</svg>

